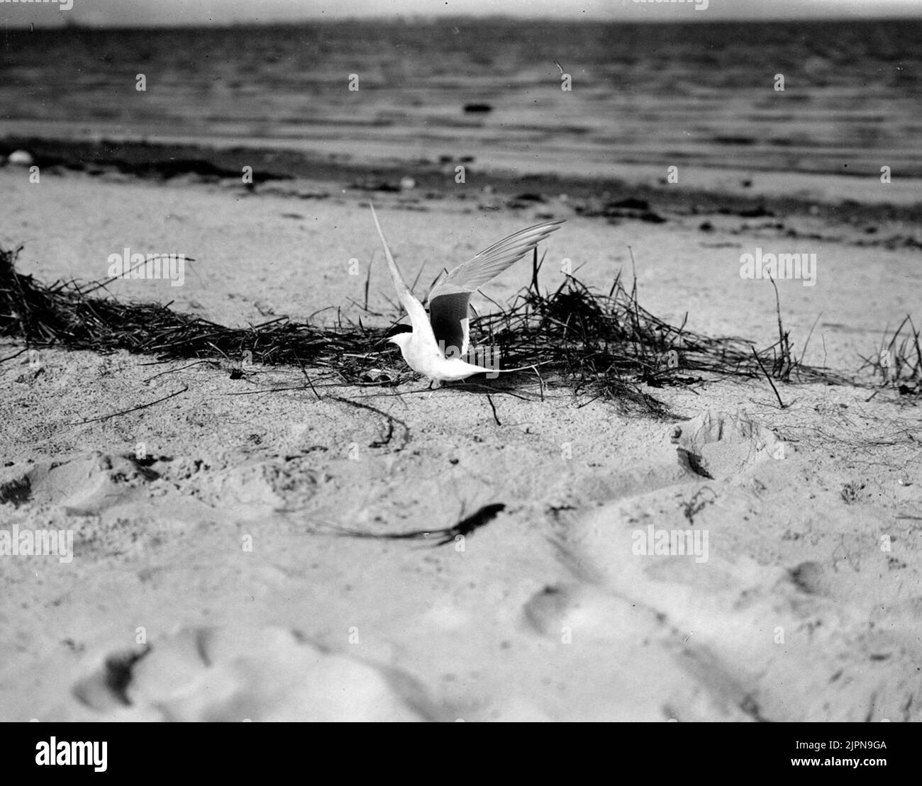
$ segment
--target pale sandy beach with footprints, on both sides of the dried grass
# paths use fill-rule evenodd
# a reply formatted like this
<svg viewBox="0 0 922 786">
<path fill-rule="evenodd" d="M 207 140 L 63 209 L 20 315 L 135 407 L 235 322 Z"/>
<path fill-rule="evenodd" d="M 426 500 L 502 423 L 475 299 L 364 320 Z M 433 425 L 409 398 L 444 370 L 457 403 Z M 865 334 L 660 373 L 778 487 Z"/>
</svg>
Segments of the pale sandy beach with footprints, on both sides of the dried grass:
<svg viewBox="0 0 922 786">
<path fill-rule="evenodd" d="M 101 279 L 130 238 L 195 262 L 183 287 L 113 282 L 118 299 L 219 323 L 361 312 L 348 265 L 375 250 L 366 192 L 84 173 L 35 187 L 9 166 L 0 182 L 6 242 L 29 240 L 18 269 L 42 280 Z M 751 219 L 372 198 L 420 281 L 565 217 L 548 257 L 587 283 L 630 266 L 630 245 L 644 307 L 774 340 L 774 293 L 739 278 L 739 254 L 787 246 Z M 822 229 L 816 285 L 779 282 L 782 313 L 799 353 L 822 312 L 807 359 L 856 370 L 910 310 L 918 252 Z M 526 268 L 486 293 L 502 303 Z M 376 252 L 370 308 L 391 308 L 388 285 Z M 917 720 L 917 399 L 869 400 L 866 374 L 779 385 L 782 409 L 764 380 L 709 380 L 656 390 L 674 414 L 659 420 L 527 384 L 491 396 L 494 417 L 464 385 L 314 392 L 298 369 L 231 380 L 232 365 L 63 349 L 0 365 L 4 526 L 74 534 L 70 561 L 6 560 L 4 720 Z M 493 503 L 443 546 L 337 534 L 449 528 Z M 706 534 L 706 553 L 637 553 L 673 530 Z"/>
</svg>

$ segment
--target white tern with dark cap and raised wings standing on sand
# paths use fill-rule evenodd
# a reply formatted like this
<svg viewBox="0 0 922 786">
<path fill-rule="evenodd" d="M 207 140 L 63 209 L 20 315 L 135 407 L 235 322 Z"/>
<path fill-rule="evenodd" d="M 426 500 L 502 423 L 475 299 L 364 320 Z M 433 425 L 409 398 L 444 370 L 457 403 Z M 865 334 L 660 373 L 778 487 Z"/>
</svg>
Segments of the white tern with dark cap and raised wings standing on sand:
<svg viewBox="0 0 922 786">
<path fill-rule="evenodd" d="M 413 293 L 400 276 L 394 256 L 387 246 L 387 240 L 384 240 L 384 232 L 378 223 L 374 205 L 369 206 L 372 208 L 374 226 L 378 228 L 378 235 L 384 244 L 384 256 L 387 258 L 391 278 L 394 279 L 397 297 L 407 310 L 411 325 L 408 332 L 397 333 L 387 340 L 399 346 L 407 365 L 428 377 L 430 383 L 463 380 L 473 374 L 496 371 L 497 369 L 488 369 L 461 359 L 467 355 L 469 345 L 470 296 L 479 287 L 499 276 L 507 267 L 532 252 L 551 232 L 560 229 L 563 219 L 545 221 L 543 224 L 522 229 L 484 249 L 467 262 L 459 264 L 432 287 L 427 314 L 422 303 L 413 297 Z"/>
</svg>

